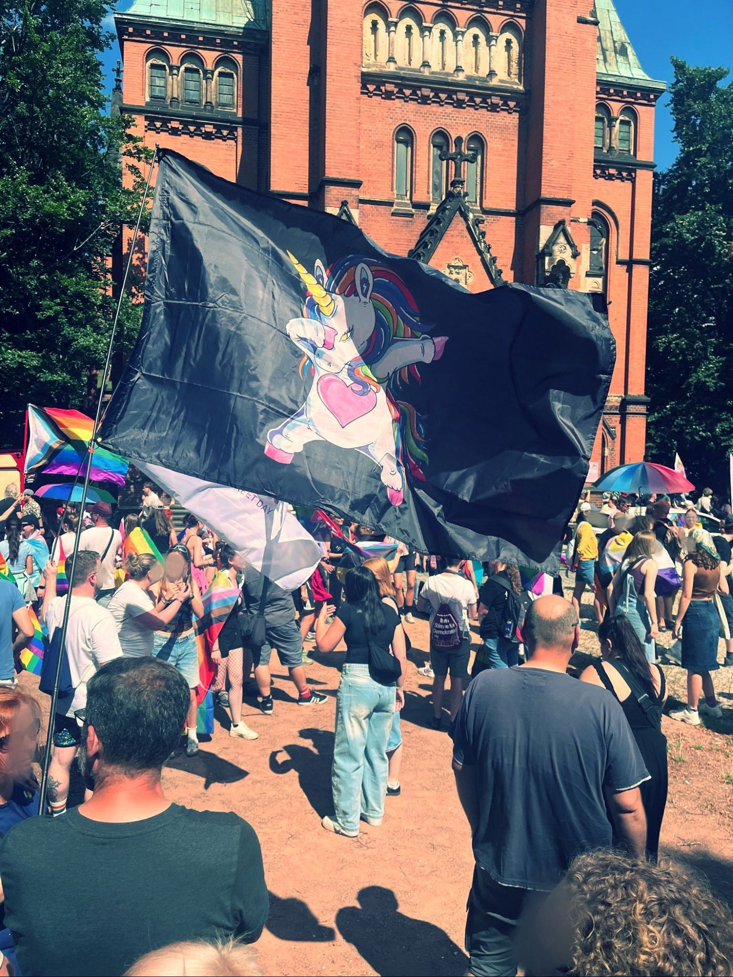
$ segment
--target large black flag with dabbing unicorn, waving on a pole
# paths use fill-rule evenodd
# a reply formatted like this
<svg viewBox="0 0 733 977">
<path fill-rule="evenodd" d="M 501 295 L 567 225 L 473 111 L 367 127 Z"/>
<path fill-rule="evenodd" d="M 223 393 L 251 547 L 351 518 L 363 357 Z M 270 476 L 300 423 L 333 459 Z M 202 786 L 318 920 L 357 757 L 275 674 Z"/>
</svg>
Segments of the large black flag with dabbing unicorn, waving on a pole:
<svg viewBox="0 0 733 977">
<path fill-rule="evenodd" d="M 102 441 L 420 552 L 549 568 L 613 365 L 587 295 L 471 294 L 163 150 L 143 324 Z"/>
</svg>

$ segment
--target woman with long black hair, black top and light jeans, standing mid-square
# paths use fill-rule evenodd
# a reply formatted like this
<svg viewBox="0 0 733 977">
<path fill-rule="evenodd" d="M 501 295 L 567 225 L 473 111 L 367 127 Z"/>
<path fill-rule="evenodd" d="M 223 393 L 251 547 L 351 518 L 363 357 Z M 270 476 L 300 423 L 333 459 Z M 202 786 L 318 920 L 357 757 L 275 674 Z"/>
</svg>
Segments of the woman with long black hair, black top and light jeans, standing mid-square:
<svg viewBox="0 0 733 977">
<path fill-rule="evenodd" d="M 360 818 L 378 826 L 384 817 L 387 741 L 392 715 L 405 704 L 405 632 L 397 612 L 382 602 L 376 577 L 367 567 L 346 574 L 345 596 L 338 611 L 323 605 L 316 620 L 320 652 L 332 652 L 342 639 L 346 642 L 331 769 L 335 814 L 323 818 L 322 825 L 335 834 L 357 837 Z M 335 615 L 333 623 L 326 624 L 330 615 Z M 400 662 L 400 675 L 382 684 L 372 678 L 373 659 L 390 653 Z"/>
</svg>

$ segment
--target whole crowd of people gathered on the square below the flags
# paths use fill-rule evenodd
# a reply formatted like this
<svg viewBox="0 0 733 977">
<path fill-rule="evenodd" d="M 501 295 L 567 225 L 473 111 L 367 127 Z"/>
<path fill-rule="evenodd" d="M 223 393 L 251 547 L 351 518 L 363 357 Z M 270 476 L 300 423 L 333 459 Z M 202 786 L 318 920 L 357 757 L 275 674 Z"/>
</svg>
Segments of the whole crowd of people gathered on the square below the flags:
<svg viewBox="0 0 733 977">
<path fill-rule="evenodd" d="M 472 831 L 471 974 L 733 969 L 728 909 L 658 865 L 668 767 L 657 639 L 670 626 L 680 637 L 688 701 L 670 715 L 682 722 L 721 715 L 711 678 L 720 633 L 733 663 L 723 629 L 733 622 L 733 520 L 723 513 L 717 532 L 706 529 L 711 495 L 700 511 L 683 504 L 679 519 L 666 497 L 609 496 L 598 508 L 583 501 L 564 550 L 566 573 L 575 570 L 571 600 L 563 573 L 422 555 L 389 539 L 391 564 L 363 559 L 359 542 L 374 534 L 338 517 L 310 526 L 321 561 L 290 593 L 194 515 L 177 530 L 151 485 L 124 533 L 102 502 L 88 514 L 56 514 L 56 534 L 46 535 L 43 517 L 54 514 L 42 513 L 32 493 L 9 498 L 0 514 L 0 552 L 16 581 L 0 579 L 0 974 L 260 972 L 242 949 L 268 914 L 255 832 L 237 815 L 171 803 L 160 783 L 182 730 L 186 755 L 198 751 L 195 624 L 222 572 L 238 598 L 211 649 L 211 691 L 229 710 L 231 737 L 258 739 L 242 719 L 245 696 L 263 716 L 275 713 L 273 651 L 292 701 L 314 708 L 329 700 L 308 681 L 308 652 L 345 647 L 333 813 L 322 825 L 347 839 L 362 822 L 381 825 L 386 798 L 403 790 L 401 712 L 418 663 L 410 663 L 410 631 L 416 637 L 416 617 L 427 617 L 428 660 L 420 655 L 418 669 L 432 679 L 425 724 L 453 740 Z M 136 526 L 161 562 L 125 554 L 123 535 Z M 69 679 L 53 723 L 51 817 L 35 817 L 40 707 L 16 673 L 34 634 L 30 611 L 51 642 L 62 626 L 62 552 Z M 579 681 L 569 664 L 588 626 L 586 587 L 600 658 Z M 470 667 L 472 625 L 479 642 Z M 85 799 L 67 809 L 74 763 Z M 177 913 L 162 913 L 173 900 Z M 115 940 L 100 939 L 111 932 Z"/>
</svg>

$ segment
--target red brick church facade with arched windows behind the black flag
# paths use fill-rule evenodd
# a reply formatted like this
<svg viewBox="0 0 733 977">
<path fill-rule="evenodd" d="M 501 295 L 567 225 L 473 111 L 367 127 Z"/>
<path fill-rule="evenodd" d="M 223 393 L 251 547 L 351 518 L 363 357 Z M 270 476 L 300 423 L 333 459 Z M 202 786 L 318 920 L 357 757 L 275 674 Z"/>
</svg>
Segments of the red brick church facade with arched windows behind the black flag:
<svg viewBox="0 0 733 977">
<path fill-rule="evenodd" d="M 115 21 L 150 146 L 472 290 L 605 292 L 618 360 L 589 477 L 643 457 L 665 85 L 613 0 L 134 0 Z"/>
</svg>

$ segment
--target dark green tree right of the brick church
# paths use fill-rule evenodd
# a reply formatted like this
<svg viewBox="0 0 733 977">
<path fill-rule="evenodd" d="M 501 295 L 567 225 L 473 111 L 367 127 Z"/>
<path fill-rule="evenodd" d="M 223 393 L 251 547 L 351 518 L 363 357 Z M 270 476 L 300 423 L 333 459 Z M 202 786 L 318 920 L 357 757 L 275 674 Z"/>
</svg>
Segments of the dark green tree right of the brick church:
<svg viewBox="0 0 733 977">
<path fill-rule="evenodd" d="M 733 83 L 672 59 L 679 153 L 656 181 L 649 303 L 650 456 L 675 450 L 727 495 L 733 451 Z"/>
</svg>

